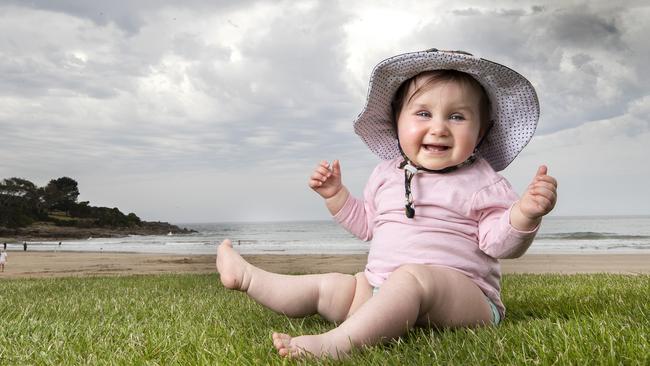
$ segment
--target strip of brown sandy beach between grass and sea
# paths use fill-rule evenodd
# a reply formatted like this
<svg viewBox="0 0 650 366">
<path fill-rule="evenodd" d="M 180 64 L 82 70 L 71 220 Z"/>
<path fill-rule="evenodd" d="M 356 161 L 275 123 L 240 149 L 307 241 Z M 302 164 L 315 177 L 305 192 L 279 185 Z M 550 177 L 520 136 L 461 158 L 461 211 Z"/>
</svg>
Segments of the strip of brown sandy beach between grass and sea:
<svg viewBox="0 0 650 366">
<path fill-rule="evenodd" d="M 9 251 L 0 278 L 214 273 L 215 256 L 140 253 Z M 247 255 L 254 265 L 277 273 L 355 273 L 364 255 Z M 650 254 L 540 255 L 501 261 L 503 273 L 650 273 Z"/>
</svg>

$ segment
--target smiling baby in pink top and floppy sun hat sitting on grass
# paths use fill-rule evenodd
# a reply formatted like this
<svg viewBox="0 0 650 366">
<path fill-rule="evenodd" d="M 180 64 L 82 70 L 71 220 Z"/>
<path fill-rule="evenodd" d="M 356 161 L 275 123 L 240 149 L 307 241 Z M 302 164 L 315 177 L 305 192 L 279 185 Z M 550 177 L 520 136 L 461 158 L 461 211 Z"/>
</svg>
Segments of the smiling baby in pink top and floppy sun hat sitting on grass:
<svg viewBox="0 0 650 366">
<path fill-rule="evenodd" d="M 498 259 L 523 255 L 557 200 L 557 182 L 537 168 L 521 196 L 496 173 L 534 134 L 537 94 L 512 69 L 460 51 L 431 49 L 379 63 L 354 130 L 384 161 L 363 198 L 321 161 L 309 186 L 358 238 L 371 241 L 365 271 L 288 276 L 246 262 L 226 239 L 217 270 L 290 317 L 318 313 L 336 328 L 273 333 L 282 356 L 341 358 L 352 348 L 400 337 L 414 326 L 497 326 L 505 316 Z"/>
</svg>

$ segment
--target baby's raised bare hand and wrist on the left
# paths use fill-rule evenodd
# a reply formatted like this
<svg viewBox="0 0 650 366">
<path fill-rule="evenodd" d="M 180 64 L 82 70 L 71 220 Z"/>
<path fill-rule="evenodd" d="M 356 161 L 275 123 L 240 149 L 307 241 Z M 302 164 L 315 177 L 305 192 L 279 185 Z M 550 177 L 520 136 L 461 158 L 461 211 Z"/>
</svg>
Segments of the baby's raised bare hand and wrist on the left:
<svg viewBox="0 0 650 366">
<path fill-rule="evenodd" d="M 332 216 L 341 211 L 350 195 L 341 182 L 341 164 L 338 160 L 334 160 L 331 169 L 327 161 L 321 161 L 309 178 L 309 187 L 325 199 Z"/>
</svg>

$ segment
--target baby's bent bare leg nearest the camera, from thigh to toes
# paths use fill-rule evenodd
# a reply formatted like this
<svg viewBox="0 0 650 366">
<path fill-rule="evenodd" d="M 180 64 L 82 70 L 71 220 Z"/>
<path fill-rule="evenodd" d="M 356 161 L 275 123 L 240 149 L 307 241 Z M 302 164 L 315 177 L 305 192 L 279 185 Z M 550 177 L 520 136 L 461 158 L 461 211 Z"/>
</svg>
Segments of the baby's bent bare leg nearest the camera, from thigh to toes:
<svg viewBox="0 0 650 366">
<path fill-rule="evenodd" d="M 283 356 L 340 358 L 352 347 L 399 337 L 415 324 L 464 327 L 490 321 L 485 295 L 465 275 L 442 267 L 405 265 L 339 327 L 295 338 L 280 334 L 273 341 Z"/>
</svg>

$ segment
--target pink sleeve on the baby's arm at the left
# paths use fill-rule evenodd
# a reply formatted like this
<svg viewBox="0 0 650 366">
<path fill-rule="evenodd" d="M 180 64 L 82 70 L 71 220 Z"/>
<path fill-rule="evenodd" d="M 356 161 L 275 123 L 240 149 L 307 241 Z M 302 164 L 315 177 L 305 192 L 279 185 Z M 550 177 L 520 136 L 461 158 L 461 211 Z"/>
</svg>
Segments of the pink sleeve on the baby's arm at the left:
<svg viewBox="0 0 650 366">
<path fill-rule="evenodd" d="M 375 168 L 366 183 L 366 188 L 363 191 L 364 199 L 358 199 L 350 194 L 341 210 L 334 215 L 334 219 L 345 230 L 363 241 L 372 239 L 376 212 L 374 197 L 378 185 L 377 170 Z"/>
</svg>

